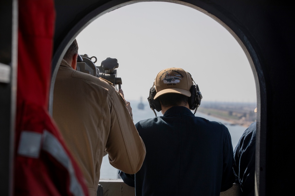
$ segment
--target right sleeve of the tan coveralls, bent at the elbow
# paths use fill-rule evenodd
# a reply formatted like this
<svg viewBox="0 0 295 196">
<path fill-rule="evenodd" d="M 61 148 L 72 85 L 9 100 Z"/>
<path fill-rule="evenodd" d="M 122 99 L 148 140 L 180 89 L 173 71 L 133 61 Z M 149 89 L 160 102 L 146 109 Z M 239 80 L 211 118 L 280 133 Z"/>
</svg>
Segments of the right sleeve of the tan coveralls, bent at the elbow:
<svg viewBox="0 0 295 196">
<path fill-rule="evenodd" d="M 109 162 L 125 173 L 135 174 L 145 159 L 145 145 L 117 91 L 113 91 L 110 104 L 111 126 L 106 143 Z"/>
</svg>

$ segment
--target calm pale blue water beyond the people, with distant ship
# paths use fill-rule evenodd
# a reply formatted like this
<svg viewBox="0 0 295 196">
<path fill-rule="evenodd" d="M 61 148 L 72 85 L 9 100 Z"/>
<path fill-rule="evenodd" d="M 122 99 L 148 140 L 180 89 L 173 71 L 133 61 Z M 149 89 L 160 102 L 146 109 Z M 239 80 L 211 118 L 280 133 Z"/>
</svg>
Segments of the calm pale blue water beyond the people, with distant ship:
<svg viewBox="0 0 295 196">
<path fill-rule="evenodd" d="M 150 106 L 148 105 L 148 101 L 143 100 L 143 102 L 145 104 L 145 108 L 144 108 L 144 110 L 139 110 L 137 108 L 139 101 L 130 101 L 130 104 L 132 107 L 134 123 L 137 123 L 138 121 L 144 120 L 147 118 L 154 118 L 155 117 L 154 112 L 150 109 Z M 156 111 L 156 113 L 157 113 L 157 116 L 162 116 L 161 112 Z M 203 117 L 208 120 L 211 120 L 211 121 L 217 121 L 217 122 L 223 123 L 230 131 L 230 135 L 232 137 L 233 148 L 235 148 L 240 137 L 242 136 L 242 133 L 246 129 L 246 127 L 242 127 L 239 125 L 230 125 L 230 123 L 227 121 L 221 120 L 219 118 L 214 118 L 212 116 L 208 116 L 208 115 L 205 115 L 202 113 L 196 112 L 195 116 L 199 116 L 199 117 Z M 101 170 L 100 170 L 100 178 L 120 178 L 118 176 L 118 170 L 109 164 L 109 159 L 108 159 L 107 155 L 102 160 L 102 165 L 101 165 Z"/>
</svg>

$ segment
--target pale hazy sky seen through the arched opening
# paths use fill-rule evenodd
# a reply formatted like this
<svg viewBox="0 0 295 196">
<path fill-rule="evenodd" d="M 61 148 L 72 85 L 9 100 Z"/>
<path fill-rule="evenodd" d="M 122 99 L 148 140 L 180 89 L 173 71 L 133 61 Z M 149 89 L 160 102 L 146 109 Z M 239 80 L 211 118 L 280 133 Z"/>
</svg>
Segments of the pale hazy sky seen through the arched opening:
<svg viewBox="0 0 295 196">
<path fill-rule="evenodd" d="M 254 102 L 249 61 L 235 38 L 206 14 L 180 4 L 140 2 L 108 12 L 76 37 L 80 55 L 119 63 L 126 100 L 147 100 L 157 74 L 170 67 L 191 73 L 202 101 Z"/>
</svg>

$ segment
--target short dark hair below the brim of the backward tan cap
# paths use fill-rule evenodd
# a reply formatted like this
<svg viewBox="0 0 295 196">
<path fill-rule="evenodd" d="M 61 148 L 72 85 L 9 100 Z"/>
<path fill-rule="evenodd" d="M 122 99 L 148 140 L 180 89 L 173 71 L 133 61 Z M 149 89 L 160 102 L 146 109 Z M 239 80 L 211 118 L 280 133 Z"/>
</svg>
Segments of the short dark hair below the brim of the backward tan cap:
<svg viewBox="0 0 295 196">
<path fill-rule="evenodd" d="M 164 107 L 185 105 L 188 103 L 188 98 L 178 93 L 167 93 L 158 97 Z"/>
</svg>

